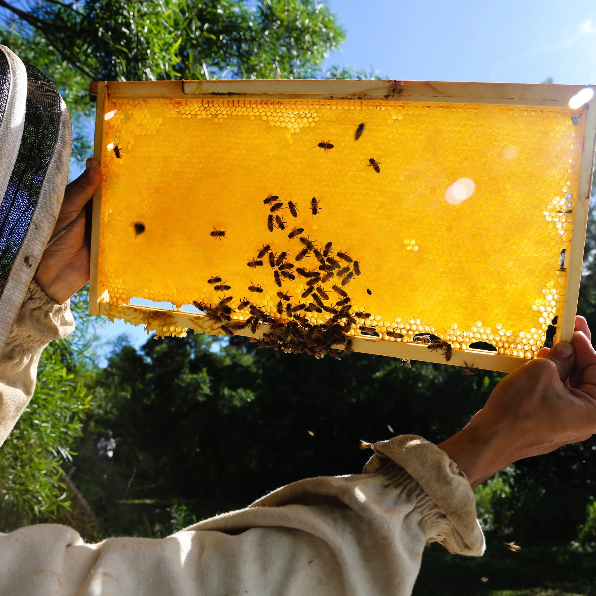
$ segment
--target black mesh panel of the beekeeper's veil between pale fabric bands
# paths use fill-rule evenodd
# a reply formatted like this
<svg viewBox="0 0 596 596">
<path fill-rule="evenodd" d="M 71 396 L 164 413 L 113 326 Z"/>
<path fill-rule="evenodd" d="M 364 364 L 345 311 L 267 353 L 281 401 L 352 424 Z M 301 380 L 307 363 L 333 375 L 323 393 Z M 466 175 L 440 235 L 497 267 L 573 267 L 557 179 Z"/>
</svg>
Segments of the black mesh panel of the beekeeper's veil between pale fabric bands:
<svg viewBox="0 0 596 596">
<path fill-rule="evenodd" d="M 6 60 L 6 58 L 4 58 Z M 61 97 L 50 80 L 26 64 L 27 101 L 17 160 L 0 204 L 0 295 L 39 198 L 54 153 L 61 117 Z"/>
</svg>

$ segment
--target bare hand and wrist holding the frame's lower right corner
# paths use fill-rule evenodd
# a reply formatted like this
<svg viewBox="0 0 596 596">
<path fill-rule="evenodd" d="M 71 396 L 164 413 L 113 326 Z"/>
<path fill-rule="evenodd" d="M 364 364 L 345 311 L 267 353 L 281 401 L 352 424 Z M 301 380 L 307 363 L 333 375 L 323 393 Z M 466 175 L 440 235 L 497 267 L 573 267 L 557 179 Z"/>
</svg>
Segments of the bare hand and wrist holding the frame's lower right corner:
<svg viewBox="0 0 596 596">
<path fill-rule="evenodd" d="M 439 447 L 479 485 L 514 461 L 596 433 L 596 352 L 583 316 L 572 342 L 542 348 L 507 375 L 484 408 Z"/>
</svg>

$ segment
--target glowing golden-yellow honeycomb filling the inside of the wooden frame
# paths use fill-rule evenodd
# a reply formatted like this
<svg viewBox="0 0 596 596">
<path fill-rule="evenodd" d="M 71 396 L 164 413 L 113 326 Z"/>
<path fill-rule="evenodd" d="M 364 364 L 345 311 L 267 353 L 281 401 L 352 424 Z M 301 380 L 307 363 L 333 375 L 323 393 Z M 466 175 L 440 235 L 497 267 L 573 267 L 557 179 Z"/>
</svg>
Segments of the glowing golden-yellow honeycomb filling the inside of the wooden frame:
<svg viewBox="0 0 596 596">
<path fill-rule="evenodd" d="M 428 333 L 533 358 L 563 308 L 583 131 L 567 108 L 160 98 L 106 111 L 111 316 L 133 298 L 204 310 L 226 297 L 232 323 L 248 300 L 271 322 L 316 326 L 337 320 L 335 286 L 349 336 Z"/>
</svg>

